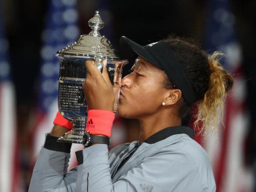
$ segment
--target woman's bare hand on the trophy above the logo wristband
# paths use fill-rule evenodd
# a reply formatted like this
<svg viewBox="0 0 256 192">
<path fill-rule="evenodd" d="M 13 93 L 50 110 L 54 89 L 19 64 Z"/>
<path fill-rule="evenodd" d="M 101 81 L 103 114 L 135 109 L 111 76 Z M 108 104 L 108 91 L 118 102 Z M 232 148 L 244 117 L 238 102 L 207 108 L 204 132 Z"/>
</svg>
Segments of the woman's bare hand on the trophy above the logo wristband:
<svg viewBox="0 0 256 192">
<path fill-rule="evenodd" d="M 108 77 L 107 60 L 103 60 L 102 74 L 92 60 L 87 60 L 85 66 L 87 74 L 83 88 L 89 109 L 113 111 L 115 98 L 112 84 Z"/>
</svg>

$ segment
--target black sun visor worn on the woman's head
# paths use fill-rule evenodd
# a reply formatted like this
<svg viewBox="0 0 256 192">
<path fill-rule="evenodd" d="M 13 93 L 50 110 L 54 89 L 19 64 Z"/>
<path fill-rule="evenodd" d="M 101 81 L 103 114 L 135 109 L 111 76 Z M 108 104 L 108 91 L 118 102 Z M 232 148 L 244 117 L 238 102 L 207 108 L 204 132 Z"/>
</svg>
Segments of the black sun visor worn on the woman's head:
<svg viewBox="0 0 256 192">
<path fill-rule="evenodd" d="M 182 65 L 175 58 L 172 49 L 164 41 L 141 46 L 131 39 L 122 36 L 119 40 L 120 54 L 125 59 L 135 59 L 142 57 L 149 63 L 164 70 L 168 78 L 177 89 L 182 91 L 182 97 L 187 105 L 192 105 L 196 101 L 191 83 L 182 68 Z"/>
</svg>

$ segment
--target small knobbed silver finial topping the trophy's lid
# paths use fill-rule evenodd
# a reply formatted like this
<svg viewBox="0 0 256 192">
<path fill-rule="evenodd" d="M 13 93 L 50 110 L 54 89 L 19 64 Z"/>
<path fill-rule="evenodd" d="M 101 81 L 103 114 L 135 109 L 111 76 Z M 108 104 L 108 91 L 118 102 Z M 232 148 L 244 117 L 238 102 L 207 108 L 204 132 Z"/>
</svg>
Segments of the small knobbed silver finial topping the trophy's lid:
<svg viewBox="0 0 256 192">
<path fill-rule="evenodd" d="M 88 24 L 92 29 L 89 35 L 94 37 L 100 37 L 101 35 L 99 33 L 99 30 L 101 30 L 105 24 L 99 15 L 99 11 L 95 11 L 94 17 L 88 21 Z"/>
</svg>

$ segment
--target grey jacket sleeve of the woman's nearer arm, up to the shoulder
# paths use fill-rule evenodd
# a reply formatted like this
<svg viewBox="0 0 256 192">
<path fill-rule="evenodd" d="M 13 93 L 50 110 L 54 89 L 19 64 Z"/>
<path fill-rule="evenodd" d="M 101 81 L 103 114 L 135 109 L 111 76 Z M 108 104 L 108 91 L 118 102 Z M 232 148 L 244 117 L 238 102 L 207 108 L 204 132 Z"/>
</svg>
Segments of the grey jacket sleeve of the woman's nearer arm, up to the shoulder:
<svg viewBox="0 0 256 192">
<path fill-rule="evenodd" d="M 175 160 L 170 159 L 176 158 Z M 108 162 L 108 148 L 97 144 L 83 150 L 83 179 L 78 192 L 202 192 L 197 168 L 183 154 L 160 153 L 148 157 L 113 183 Z M 125 165 L 124 165 L 125 166 Z M 182 170 L 182 171 L 181 171 Z"/>
</svg>

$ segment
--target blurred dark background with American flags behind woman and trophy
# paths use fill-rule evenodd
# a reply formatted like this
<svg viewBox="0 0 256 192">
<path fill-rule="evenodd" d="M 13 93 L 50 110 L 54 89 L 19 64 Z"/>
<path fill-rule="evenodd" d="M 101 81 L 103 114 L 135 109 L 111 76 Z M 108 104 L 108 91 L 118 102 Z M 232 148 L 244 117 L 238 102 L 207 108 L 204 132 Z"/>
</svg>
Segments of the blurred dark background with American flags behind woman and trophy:
<svg viewBox="0 0 256 192">
<path fill-rule="evenodd" d="M 55 53 L 90 32 L 96 10 L 105 22 L 100 33 L 115 48 L 122 35 L 145 45 L 172 33 L 196 39 L 208 53 L 226 54 L 222 64 L 235 84 L 224 126 L 218 139 L 195 139 L 211 158 L 217 192 L 256 192 L 255 0 L 1 0 L 0 192 L 28 191 L 58 110 Z M 112 147 L 138 139 L 138 132 L 136 120 L 117 116 Z M 69 168 L 79 148 L 72 146 Z"/>
</svg>

